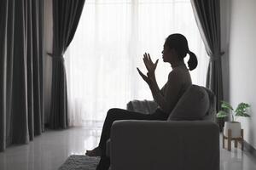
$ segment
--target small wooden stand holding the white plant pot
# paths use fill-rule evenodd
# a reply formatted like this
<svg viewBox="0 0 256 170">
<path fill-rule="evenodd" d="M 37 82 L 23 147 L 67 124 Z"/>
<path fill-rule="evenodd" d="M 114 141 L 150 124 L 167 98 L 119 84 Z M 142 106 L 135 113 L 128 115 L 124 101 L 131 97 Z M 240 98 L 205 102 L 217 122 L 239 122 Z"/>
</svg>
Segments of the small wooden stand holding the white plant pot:
<svg viewBox="0 0 256 170">
<path fill-rule="evenodd" d="M 225 147 L 225 139 L 228 139 L 228 150 L 231 150 L 231 140 L 235 140 L 235 148 L 237 148 L 237 143 L 241 143 L 241 150 L 243 150 L 243 129 L 241 129 L 241 136 L 239 138 L 231 138 L 232 132 L 231 129 L 228 129 L 228 136 L 224 136 L 223 130 L 223 139 L 222 139 L 222 146 Z"/>
</svg>

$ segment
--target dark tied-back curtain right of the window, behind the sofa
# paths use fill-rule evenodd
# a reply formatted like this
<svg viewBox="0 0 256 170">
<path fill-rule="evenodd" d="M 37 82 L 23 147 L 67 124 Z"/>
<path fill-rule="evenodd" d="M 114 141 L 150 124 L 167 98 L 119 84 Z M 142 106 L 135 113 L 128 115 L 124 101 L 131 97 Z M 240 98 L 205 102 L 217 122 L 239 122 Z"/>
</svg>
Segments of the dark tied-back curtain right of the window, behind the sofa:
<svg viewBox="0 0 256 170">
<path fill-rule="evenodd" d="M 197 26 L 210 56 L 207 70 L 207 88 L 216 95 L 216 109 L 220 110 L 220 101 L 223 100 L 223 82 L 220 39 L 220 6 L 219 0 L 191 0 Z"/>
</svg>

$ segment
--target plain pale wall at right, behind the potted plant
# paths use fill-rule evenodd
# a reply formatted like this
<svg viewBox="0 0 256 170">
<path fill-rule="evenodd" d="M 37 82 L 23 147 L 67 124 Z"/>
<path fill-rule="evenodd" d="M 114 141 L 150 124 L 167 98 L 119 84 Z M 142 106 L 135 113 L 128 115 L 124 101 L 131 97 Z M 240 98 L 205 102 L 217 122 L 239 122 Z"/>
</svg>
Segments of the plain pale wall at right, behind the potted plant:
<svg viewBox="0 0 256 170">
<path fill-rule="evenodd" d="M 230 1 L 230 102 L 251 105 L 239 118 L 245 140 L 256 148 L 256 1 Z"/>
</svg>

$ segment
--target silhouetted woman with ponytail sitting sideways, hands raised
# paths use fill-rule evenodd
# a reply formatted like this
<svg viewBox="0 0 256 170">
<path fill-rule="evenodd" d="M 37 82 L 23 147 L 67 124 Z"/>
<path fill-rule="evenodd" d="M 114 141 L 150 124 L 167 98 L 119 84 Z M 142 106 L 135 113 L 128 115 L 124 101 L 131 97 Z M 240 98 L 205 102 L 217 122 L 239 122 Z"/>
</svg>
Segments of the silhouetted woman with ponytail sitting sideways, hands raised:
<svg viewBox="0 0 256 170">
<path fill-rule="evenodd" d="M 149 54 L 143 54 L 143 61 L 148 70 L 146 75 L 137 68 L 143 80 L 148 83 L 154 101 L 159 105 L 152 114 L 143 114 L 135 111 L 122 109 L 110 109 L 106 116 L 102 128 L 102 136 L 99 145 L 94 150 L 87 150 L 87 156 L 101 156 L 101 161 L 97 170 L 107 170 L 110 160 L 106 156 L 106 142 L 110 137 L 110 129 L 114 121 L 117 120 L 160 120 L 166 121 L 172 109 L 177 104 L 178 99 L 192 84 L 189 71 L 197 66 L 197 59 L 194 53 L 189 51 L 188 41 L 182 34 L 172 34 L 166 38 L 162 51 L 163 61 L 170 63 L 172 71 L 169 73 L 168 81 L 163 88 L 159 88 L 156 82 L 154 71 L 158 64 L 158 59 L 153 62 Z M 184 63 L 184 58 L 189 54 L 189 69 Z"/>
</svg>

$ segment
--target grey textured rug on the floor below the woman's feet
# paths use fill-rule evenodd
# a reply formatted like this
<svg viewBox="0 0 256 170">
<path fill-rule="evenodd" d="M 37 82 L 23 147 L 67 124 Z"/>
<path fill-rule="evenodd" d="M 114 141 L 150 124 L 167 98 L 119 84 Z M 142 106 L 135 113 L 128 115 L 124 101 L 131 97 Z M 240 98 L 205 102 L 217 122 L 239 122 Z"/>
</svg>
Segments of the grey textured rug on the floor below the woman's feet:
<svg viewBox="0 0 256 170">
<path fill-rule="evenodd" d="M 95 170 L 100 157 L 72 155 L 59 167 L 58 170 Z"/>
</svg>

